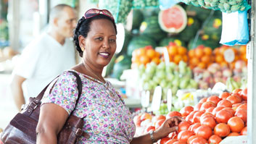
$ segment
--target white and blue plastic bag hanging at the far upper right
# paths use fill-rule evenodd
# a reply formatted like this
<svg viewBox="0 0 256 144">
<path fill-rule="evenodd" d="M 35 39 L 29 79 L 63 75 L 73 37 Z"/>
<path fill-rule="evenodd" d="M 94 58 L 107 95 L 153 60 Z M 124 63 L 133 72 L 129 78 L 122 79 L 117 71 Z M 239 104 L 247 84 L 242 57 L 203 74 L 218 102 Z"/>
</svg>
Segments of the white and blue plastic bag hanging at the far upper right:
<svg viewBox="0 0 256 144">
<path fill-rule="evenodd" d="M 245 45 L 249 41 L 247 12 L 223 14 L 223 25 L 220 43 L 227 46 Z"/>
</svg>

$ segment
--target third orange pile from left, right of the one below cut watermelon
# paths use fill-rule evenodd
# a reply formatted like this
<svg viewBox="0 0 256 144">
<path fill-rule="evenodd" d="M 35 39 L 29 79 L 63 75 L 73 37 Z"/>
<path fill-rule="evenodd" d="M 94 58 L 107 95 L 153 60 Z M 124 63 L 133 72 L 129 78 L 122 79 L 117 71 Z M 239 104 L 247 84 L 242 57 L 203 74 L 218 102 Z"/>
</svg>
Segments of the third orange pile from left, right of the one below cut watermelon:
<svg viewBox="0 0 256 144">
<path fill-rule="evenodd" d="M 200 45 L 189 50 L 189 67 L 191 69 L 194 67 L 206 69 L 212 62 L 214 62 L 214 57 L 210 47 Z"/>
</svg>

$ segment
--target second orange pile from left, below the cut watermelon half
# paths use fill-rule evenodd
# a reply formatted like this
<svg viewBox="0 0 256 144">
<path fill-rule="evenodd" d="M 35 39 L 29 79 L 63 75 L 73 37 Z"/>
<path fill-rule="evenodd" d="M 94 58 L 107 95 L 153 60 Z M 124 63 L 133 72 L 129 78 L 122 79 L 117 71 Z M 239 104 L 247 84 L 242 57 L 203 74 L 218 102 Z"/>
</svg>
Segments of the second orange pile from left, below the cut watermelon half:
<svg viewBox="0 0 256 144">
<path fill-rule="evenodd" d="M 180 61 L 188 62 L 187 50 L 183 46 L 178 46 L 176 43 L 169 43 L 167 47 L 170 62 L 178 64 Z"/>
</svg>

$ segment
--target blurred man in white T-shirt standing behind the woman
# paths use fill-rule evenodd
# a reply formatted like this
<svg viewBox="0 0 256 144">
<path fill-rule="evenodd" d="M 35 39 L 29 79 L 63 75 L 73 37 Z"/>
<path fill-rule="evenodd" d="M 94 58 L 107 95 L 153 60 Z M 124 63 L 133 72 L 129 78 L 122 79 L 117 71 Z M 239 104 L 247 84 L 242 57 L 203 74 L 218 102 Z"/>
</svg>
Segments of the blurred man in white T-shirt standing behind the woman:
<svg viewBox="0 0 256 144">
<path fill-rule="evenodd" d="M 70 38 L 76 23 L 75 9 L 66 4 L 53 7 L 49 14 L 49 30 L 22 51 L 10 84 L 19 111 L 29 97 L 38 96 L 54 77 L 75 65 L 75 48 Z"/>
</svg>

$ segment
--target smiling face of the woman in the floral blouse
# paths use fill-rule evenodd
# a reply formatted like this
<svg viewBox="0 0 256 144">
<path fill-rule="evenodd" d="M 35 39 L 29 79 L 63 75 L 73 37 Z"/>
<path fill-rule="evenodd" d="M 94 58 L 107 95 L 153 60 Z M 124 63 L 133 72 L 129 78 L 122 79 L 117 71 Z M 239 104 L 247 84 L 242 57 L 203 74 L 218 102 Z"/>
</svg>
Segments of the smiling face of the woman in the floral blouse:
<svg viewBox="0 0 256 144">
<path fill-rule="evenodd" d="M 94 67 L 104 67 L 109 64 L 115 54 L 116 33 L 110 20 L 93 20 L 84 41 L 83 59 Z"/>
</svg>

